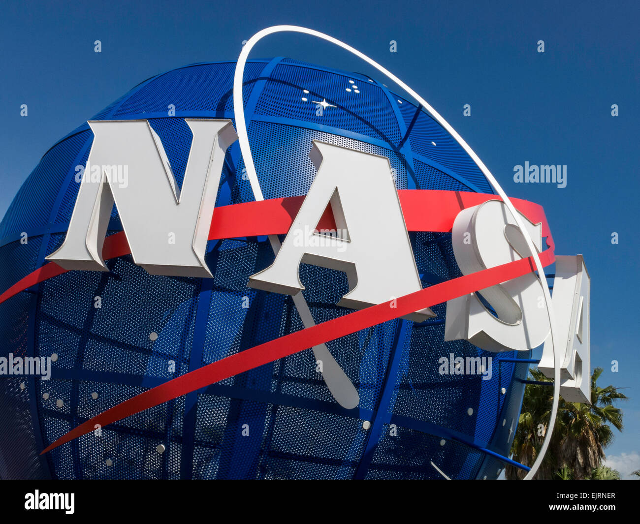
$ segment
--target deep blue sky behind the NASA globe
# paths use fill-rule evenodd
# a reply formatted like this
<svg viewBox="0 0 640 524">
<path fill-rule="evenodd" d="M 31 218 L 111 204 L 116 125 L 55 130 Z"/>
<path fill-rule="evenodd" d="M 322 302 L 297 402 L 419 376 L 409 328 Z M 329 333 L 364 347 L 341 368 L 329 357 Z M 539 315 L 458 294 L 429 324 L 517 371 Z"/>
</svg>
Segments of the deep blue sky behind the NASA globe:
<svg viewBox="0 0 640 524">
<path fill-rule="evenodd" d="M 510 196 L 543 205 L 556 253 L 582 253 L 591 275 L 591 365 L 625 388 L 625 431 L 610 463 L 640 468 L 637 2 L 326 0 L 233 3 L 3 3 L 0 18 L 0 216 L 55 141 L 135 84 L 198 61 L 236 60 L 267 26 L 328 33 L 422 95 L 474 148 Z M 102 42 L 102 52 L 93 42 Z M 397 52 L 390 52 L 396 40 Z M 545 52 L 537 51 L 539 40 Z M 300 35 L 253 57 L 285 55 L 369 73 L 357 58 Z M 374 74 L 374 73 L 371 73 Z M 380 80 L 380 75 L 374 74 Z M 20 116 L 28 104 L 28 116 Z M 470 104 L 471 116 L 463 116 Z M 619 116 L 611 116 L 618 104 Z M 515 184 L 518 164 L 567 166 L 567 184 Z M 619 243 L 611 243 L 611 234 Z M 619 372 L 611 371 L 618 360 Z M 617 432 L 616 432 L 617 433 Z"/>
</svg>

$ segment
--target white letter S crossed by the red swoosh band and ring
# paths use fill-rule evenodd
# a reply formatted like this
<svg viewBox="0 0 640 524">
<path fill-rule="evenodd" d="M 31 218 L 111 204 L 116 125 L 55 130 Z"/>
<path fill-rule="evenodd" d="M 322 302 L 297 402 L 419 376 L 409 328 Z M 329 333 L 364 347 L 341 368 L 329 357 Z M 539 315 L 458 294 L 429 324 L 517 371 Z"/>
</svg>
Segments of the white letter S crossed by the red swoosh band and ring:
<svg viewBox="0 0 640 524">
<path fill-rule="evenodd" d="M 541 225 L 523 218 L 540 252 Z M 467 232 L 471 242 L 465 243 Z M 500 200 L 489 200 L 462 210 L 454 221 L 452 244 L 463 274 L 500 266 L 531 254 L 511 212 Z M 447 302 L 445 340 L 466 339 L 493 352 L 527 351 L 538 347 L 549 333 L 547 312 L 539 307 L 540 296 L 543 296 L 540 280 L 534 273 L 528 273 L 480 293 L 450 300 Z"/>
</svg>

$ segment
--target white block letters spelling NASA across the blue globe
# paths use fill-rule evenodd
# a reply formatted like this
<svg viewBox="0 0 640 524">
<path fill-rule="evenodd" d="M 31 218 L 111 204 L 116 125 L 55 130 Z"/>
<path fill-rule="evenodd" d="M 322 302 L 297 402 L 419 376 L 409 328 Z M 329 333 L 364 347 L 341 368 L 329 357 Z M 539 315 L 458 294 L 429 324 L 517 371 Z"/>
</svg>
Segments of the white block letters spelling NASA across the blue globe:
<svg viewBox="0 0 640 524">
<path fill-rule="evenodd" d="M 204 262 L 214 214 L 212 202 L 218 193 L 223 157 L 237 135 L 228 120 L 186 122 L 193 142 L 182 191 L 177 189 L 161 141 L 147 121 L 89 122 L 95 136 L 89 162 L 103 166 L 103 177 L 81 184 L 65 241 L 47 260 L 68 270 L 108 271 L 102 248 L 115 203 L 136 264 L 150 274 L 212 278 Z M 388 159 L 317 141 L 311 156 L 317 175 L 309 192 L 275 261 L 250 276 L 248 286 L 295 296 L 305 289 L 299 268 L 307 263 L 347 274 L 349 292 L 340 299 L 340 306 L 366 308 L 422 289 Z M 131 171 L 131 184 L 125 187 L 117 179 L 109 179 L 104 170 L 104 166 L 118 165 Z M 362 198 L 360 187 L 365 184 L 367 195 Z M 333 237 L 333 242 L 320 242 L 327 233 L 318 231 L 317 225 L 327 207 L 337 231 L 343 233 Z M 521 219 L 536 251 L 541 252 L 541 223 L 534 224 L 524 215 Z M 384 251 L 379 249 L 381 242 Z M 463 274 L 531 256 L 524 235 L 500 200 L 488 200 L 458 213 L 452 245 Z M 573 267 L 564 269 L 565 264 Z M 567 262 L 563 259 L 559 286 L 586 274 L 578 264 L 582 264 L 579 257 Z M 568 340 L 584 329 L 583 312 L 588 315 L 589 310 L 588 276 L 585 284 L 580 290 L 571 289 L 562 301 L 556 299 L 556 312 L 563 315 L 557 318 L 575 327 L 575 333 L 568 330 Z M 495 352 L 528 351 L 545 342 L 550 328 L 547 312 L 540 306 L 543 292 L 536 274 L 483 289 L 481 296 L 495 314 L 477 293 L 447 302 L 445 340 L 464 339 Z M 579 308 L 573 305 L 574 296 Z M 429 308 L 408 315 L 418 322 L 435 316 Z M 586 326 L 588 329 L 588 323 Z M 565 358 L 575 361 L 577 353 L 578 348 L 572 347 Z M 542 368 L 548 369 L 545 365 Z M 572 371 L 566 373 L 567 378 L 575 379 Z M 580 379 L 565 387 L 580 390 L 582 386 Z M 580 402 L 588 402 L 588 395 Z"/>
</svg>

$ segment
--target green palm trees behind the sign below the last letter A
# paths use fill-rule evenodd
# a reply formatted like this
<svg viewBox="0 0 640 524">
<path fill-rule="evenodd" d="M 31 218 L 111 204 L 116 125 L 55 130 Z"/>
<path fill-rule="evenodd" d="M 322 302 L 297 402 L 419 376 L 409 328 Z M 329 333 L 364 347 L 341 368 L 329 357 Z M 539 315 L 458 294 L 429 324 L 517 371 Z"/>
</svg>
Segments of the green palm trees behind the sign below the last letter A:
<svg viewBox="0 0 640 524">
<path fill-rule="evenodd" d="M 591 477 L 605 457 L 604 449 L 613 441 L 611 425 L 622 431 L 622 411 L 613 403 L 628 397 L 614 386 L 600 388 L 596 384 L 600 374 L 602 368 L 596 368 L 591 376 L 591 405 L 560 399 L 554 433 L 536 479 L 563 478 L 562 473 L 554 474 L 564 466 L 569 468 L 573 479 Z M 549 381 L 537 369 L 532 369 L 531 375 L 536 381 Z M 552 394 L 548 386 L 527 386 L 511 446 L 513 460 L 531 466 L 536 459 L 547 430 Z M 505 475 L 516 479 L 524 477 L 525 472 L 507 466 Z"/>
</svg>

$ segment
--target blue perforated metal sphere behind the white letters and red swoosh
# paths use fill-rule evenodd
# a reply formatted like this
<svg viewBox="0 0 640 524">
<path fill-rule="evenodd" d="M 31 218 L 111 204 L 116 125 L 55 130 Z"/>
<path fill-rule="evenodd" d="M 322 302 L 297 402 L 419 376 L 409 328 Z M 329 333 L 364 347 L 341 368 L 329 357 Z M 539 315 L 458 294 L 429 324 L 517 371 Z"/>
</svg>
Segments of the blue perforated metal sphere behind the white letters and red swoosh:
<svg viewBox="0 0 640 524">
<path fill-rule="evenodd" d="M 191 145 L 184 118 L 234 118 L 235 66 L 200 63 L 157 75 L 92 120 L 147 119 L 181 185 Z M 244 81 L 264 198 L 307 193 L 316 173 L 308 157 L 313 139 L 388 157 L 398 189 L 492 193 L 438 123 L 374 79 L 275 58 L 249 61 Z M 320 115 L 316 102 L 323 99 L 335 107 Z M 0 224 L 0 292 L 60 246 L 79 187 L 76 166 L 86 163 L 92 139 L 84 123 L 56 143 L 13 200 Z M 217 206 L 253 200 L 243 170 L 236 142 Z M 114 209 L 108 234 L 120 230 Z M 451 234 L 410 238 L 423 286 L 460 276 Z M 497 477 L 504 464 L 483 449 L 508 455 L 524 388 L 517 379 L 527 365 L 494 362 L 490 380 L 440 375 L 438 358 L 450 353 L 496 356 L 444 342 L 445 305 L 420 324 L 389 321 L 328 342 L 358 389 L 355 409 L 333 399 L 306 350 L 39 456 L 70 429 L 147 388 L 303 329 L 289 296 L 246 287 L 273 258 L 263 237 L 210 241 L 212 279 L 152 276 L 127 255 L 108 260 L 108 273 L 70 271 L 2 303 L 3 356 L 58 359 L 49 381 L 0 377 L 0 477 L 442 478 L 432 463 L 453 479 Z M 316 322 L 351 312 L 335 305 L 348 291 L 343 273 L 303 264 L 300 276 Z"/>
</svg>

